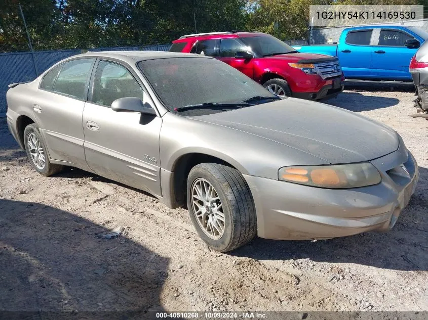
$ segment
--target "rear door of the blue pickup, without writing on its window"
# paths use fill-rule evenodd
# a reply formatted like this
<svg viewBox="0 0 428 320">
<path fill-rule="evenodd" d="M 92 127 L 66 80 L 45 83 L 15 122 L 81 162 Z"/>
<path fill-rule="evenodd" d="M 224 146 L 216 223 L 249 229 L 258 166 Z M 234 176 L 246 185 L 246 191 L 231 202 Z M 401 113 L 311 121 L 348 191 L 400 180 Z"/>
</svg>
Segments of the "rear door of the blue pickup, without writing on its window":
<svg viewBox="0 0 428 320">
<path fill-rule="evenodd" d="M 345 43 L 339 43 L 337 57 L 346 77 L 370 77 L 372 33 L 372 29 L 348 31 Z"/>
</svg>

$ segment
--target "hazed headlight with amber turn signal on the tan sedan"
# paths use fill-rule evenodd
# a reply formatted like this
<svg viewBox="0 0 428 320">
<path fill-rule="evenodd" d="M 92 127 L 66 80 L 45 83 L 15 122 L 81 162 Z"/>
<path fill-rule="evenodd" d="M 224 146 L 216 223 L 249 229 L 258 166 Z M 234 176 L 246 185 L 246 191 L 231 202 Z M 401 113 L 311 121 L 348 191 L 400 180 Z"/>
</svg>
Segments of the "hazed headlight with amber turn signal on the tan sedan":
<svg viewBox="0 0 428 320">
<path fill-rule="evenodd" d="M 278 177 L 295 184 L 332 189 L 366 187 L 381 181 L 379 171 L 369 162 L 283 167 Z"/>
</svg>

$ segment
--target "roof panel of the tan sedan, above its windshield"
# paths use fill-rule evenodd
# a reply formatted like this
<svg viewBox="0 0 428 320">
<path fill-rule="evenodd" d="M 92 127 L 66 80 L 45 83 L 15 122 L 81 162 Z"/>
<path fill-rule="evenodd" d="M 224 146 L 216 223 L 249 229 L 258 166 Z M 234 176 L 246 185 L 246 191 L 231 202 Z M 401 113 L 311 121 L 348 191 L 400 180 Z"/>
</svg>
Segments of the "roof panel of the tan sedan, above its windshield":
<svg viewBox="0 0 428 320">
<path fill-rule="evenodd" d="M 169 51 L 98 51 L 87 52 L 85 54 L 73 56 L 76 57 L 104 57 L 122 60 L 128 63 L 135 63 L 143 60 L 164 59 L 164 58 L 211 58 L 197 54 L 188 54 Z"/>
</svg>

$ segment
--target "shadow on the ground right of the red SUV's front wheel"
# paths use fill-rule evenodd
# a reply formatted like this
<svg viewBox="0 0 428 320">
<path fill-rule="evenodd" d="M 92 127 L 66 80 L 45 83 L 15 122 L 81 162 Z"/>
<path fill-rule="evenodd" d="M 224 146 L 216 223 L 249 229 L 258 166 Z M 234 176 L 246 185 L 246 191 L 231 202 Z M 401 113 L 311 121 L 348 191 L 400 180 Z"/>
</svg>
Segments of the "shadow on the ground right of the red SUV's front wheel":
<svg viewBox="0 0 428 320">
<path fill-rule="evenodd" d="M 336 99 L 325 101 L 326 104 L 355 112 L 388 108 L 399 102 L 397 98 L 364 96 L 357 92 L 342 92 Z"/>
</svg>

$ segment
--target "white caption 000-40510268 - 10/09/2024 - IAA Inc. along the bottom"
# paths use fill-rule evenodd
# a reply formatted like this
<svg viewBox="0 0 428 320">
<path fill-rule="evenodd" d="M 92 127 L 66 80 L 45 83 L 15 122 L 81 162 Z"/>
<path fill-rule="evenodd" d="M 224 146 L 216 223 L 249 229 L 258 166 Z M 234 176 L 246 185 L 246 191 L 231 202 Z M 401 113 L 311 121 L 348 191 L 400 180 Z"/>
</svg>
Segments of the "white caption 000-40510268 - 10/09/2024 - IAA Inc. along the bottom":
<svg viewBox="0 0 428 320">
<path fill-rule="evenodd" d="M 156 318 L 204 318 L 204 319 L 266 319 L 263 312 L 156 312 Z"/>
</svg>

